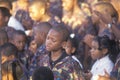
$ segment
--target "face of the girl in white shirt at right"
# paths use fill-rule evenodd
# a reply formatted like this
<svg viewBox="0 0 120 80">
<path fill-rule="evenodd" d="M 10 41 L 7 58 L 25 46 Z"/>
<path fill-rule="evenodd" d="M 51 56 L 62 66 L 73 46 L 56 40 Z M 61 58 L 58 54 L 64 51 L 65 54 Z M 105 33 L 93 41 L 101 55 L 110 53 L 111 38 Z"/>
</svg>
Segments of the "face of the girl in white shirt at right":
<svg viewBox="0 0 120 80">
<path fill-rule="evenodd" d="M 99 50 L 98 42 L 92 41 L 91 57 L 93 60 L 100 59 L 103 54 L 102 50 Z"/>
</svg>

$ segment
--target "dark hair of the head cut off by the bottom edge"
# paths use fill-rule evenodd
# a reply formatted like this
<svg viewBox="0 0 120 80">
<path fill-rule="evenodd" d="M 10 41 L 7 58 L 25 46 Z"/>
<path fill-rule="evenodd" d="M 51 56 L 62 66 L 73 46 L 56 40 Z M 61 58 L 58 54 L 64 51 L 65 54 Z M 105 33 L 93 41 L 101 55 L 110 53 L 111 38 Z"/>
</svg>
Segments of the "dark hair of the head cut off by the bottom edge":
<svg viewBox="0 0 120 80">
<path fill-rule="evenodd" d="M 39 67 L 33 72 L 32 80 L 54 80 L 53 72 L 47 67 Z"/>
</svg>

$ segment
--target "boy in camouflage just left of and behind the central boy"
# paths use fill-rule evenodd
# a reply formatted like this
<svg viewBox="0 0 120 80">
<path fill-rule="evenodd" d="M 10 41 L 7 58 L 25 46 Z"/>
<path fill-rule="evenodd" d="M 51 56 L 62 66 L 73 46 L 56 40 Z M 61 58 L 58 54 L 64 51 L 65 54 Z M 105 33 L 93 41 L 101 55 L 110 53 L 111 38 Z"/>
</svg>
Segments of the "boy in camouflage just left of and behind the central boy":
<svg viewBox="0 0 120 80">
<path fill-rule="evenodd" d="M 45 53 L 45 40 L 51 28 L 52 26 L 48 22 L 41 22 L 33 28 L 33 36 L 37 49 L 34 49 L 36 51 L 33 51 L 35 53 L 30 64 L 30 76 L 39 63 L 40 55 Z"/>
</svg>

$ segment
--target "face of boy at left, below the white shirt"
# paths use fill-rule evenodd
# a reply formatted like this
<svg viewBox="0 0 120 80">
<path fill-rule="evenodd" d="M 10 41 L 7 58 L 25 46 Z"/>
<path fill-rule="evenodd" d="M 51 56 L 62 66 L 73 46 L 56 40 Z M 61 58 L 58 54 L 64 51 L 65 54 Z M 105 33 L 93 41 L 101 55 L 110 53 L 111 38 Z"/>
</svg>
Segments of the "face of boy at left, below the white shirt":
<svg viewBox="0 0 120 80">
<path fill-rule="evenodd" d="M 19 51 L 22 51 L 25 47 L 26 38 L 23 35 L 16 35 L 13 43 L 18 48 Z"/>
</svg>

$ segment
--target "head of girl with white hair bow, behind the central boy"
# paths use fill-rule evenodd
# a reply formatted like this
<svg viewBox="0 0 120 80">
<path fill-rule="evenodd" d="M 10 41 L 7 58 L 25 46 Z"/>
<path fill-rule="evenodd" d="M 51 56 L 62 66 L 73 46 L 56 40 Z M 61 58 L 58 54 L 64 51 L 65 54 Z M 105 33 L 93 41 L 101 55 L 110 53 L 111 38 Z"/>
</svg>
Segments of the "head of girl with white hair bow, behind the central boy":
<svg viewBox="0 0 120 80">
<path fill-rule="evenodd" d="M 75 54 L 77 51 L 77 48 L 78 48 L 77 36 L 74 33 L 72 33 L 70 34 L 65 46 L 66 53 L 68 55 Z"/>
</svg>

